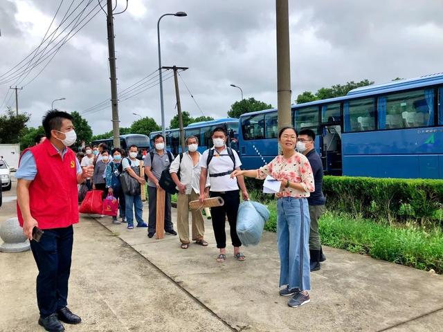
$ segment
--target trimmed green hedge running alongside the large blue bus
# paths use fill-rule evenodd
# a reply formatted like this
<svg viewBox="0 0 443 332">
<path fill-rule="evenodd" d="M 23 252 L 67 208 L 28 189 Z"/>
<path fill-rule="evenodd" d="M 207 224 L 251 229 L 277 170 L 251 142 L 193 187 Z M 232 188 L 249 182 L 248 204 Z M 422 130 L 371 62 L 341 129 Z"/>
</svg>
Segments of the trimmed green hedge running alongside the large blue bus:
<svg viewBox="0 0 443 332">
<path fill-rule="evenodd" d="M 442 180 L 325 176 L 323 192 L 328 210 L 389 223 L 442 223 Z"/>
</svg>

